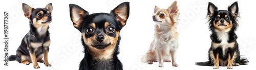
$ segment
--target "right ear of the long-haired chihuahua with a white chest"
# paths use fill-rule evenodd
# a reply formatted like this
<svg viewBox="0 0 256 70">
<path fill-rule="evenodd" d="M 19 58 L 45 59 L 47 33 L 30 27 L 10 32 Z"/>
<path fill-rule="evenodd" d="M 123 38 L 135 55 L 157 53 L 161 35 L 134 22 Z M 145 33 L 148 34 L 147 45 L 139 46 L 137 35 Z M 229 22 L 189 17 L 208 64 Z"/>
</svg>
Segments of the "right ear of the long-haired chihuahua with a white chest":
<svg viewBox="0 0 256 70">
<path fill-rule="evenodd" d="M 229 6 L 228 11 L 231 12 L 233 17 L 237 17 L 238 16 L 238 2 L 234 2 L 231 6 Z"/>
</svg>

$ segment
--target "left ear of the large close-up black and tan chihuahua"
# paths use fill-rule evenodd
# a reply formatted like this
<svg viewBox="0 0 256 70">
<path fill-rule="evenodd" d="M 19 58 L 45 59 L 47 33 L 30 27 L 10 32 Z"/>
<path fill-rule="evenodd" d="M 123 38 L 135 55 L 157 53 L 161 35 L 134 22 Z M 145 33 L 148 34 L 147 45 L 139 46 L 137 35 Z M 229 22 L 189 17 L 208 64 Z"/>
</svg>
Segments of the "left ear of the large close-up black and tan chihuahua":
<svg viewBox="0 0 256 70">
<path fill-rule="evenodd" d="M 69 12 L 70 12 L 70 18 L 73 22 L 74 27 L 81 32 L 81 25 L 82 25 L 81 23 L 83 22 L 83 18 L 86 15 L 89 15 L 89 13 L 75 4 L 69 5 Z"/>
</svg>

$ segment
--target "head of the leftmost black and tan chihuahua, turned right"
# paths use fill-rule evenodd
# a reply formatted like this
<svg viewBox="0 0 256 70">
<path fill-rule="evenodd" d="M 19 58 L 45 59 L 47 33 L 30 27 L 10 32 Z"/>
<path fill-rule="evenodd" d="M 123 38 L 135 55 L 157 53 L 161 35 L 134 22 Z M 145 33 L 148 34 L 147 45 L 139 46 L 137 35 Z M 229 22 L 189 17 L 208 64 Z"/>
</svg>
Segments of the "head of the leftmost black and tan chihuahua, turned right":
<svg viewBox="0 0 256 70">
<path fill-rule="evenodd" d="M 33 24 L 35 28 L 41 26 L 47 26 L 52 21 L 52 4 L 48 4 L 45 8 L 32 8 L 27 4 L 22 4 L 23 12 L 25 17 L 27 17 Z"/>
</svg>

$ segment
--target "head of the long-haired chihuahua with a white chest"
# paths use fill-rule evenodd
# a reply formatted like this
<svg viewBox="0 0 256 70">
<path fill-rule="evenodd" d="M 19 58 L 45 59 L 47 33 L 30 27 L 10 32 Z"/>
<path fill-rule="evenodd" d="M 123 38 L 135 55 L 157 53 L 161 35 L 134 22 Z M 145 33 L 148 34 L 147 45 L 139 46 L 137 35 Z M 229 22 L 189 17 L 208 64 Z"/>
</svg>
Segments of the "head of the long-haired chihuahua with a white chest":
<svg viewBox="0 0 256 70">
<path fill-rule="evenodd" d="M 234 2 L 228 10 L 218 10 L 214 4 L 209 2 L 207 15 L 210 21 L 209 26 L 219 31 L 230 31 L 234 25 L 238 26 L 238 10 L 238 2 Z"/>
</svg>

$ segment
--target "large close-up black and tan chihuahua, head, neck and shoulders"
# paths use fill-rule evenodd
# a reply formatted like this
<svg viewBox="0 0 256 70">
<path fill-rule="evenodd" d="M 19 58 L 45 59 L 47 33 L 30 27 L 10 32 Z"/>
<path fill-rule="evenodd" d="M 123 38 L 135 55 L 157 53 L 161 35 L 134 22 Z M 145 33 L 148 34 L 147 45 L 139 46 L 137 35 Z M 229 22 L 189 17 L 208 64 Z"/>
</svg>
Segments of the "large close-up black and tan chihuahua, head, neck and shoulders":
<svg viewBox="0 0 256 70">
<path fill-rule="evenodd" d="M 69 6 L 73 25 L 82 33 L 84 58 L 79 70 L 122 70 L 117 58 L 119 32 L 129 17 L 129 2 L 118 5 L 110 13 L 89 14 L 77 5 Z"/>
</svg>

